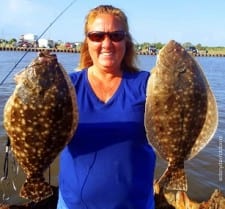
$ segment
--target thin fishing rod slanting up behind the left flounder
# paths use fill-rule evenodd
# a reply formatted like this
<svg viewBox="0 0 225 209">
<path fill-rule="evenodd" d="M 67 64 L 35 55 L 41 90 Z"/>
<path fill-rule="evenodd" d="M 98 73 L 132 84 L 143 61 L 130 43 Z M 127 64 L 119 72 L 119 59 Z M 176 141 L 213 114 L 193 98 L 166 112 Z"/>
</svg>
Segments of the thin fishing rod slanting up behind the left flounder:
<svg viewBox="0 0 225 209">
<path fill-rule="evenodd" d="M 77 0 L 73 0 L 68 6 L 65 7 L 64 10 L 62 10 L 56 18 L 44 29 L 44 31 L 41 33 L 41 35 L 37 38 L 36 41 L 38 41 L 47 31 L 48 29 L 76 2 Z M 24 55 L 17 61 L 17 63 L 12 67 L 12 69 L 6 74 L 6 76 L 2 79 L 0 82 L 0 86 L 4 84 L 5 80 L 10 76 L 10 74 L 15 70 L 17 65 L 23 60 L 23 58 L 29 53 L 29 51 L 26 51 Z"/>
</svg>

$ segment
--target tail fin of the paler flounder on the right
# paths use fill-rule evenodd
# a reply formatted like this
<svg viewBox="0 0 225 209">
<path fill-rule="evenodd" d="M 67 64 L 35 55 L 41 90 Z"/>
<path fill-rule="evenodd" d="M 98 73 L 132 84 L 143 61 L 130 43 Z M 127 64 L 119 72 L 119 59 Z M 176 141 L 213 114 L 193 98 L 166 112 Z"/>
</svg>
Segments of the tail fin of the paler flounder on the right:
<svg viewBox="0 0 225 209">
<path fill-rule="evenodd" d="M 187 177 L 184 172 L 184 166 L 169 165 L 157 183 L 160 187 L 164 187 L 167 190 L 187 192 Z"/>
</svg>

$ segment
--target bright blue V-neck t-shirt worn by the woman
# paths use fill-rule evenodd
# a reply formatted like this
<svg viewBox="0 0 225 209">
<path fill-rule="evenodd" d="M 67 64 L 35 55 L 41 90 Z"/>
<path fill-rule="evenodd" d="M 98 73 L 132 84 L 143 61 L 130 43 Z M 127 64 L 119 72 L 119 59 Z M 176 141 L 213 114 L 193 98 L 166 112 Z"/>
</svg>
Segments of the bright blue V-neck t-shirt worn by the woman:
<svg viewBox="0 0 225 209">
<path fill-rule="evenodd" d="M 124 72 L 112 98 L 96 97 L 87 70 L 70 74 L 79 124 L 60 156 L 60 201 L 69 209 L 153 209 L 155 153 L 144 128 L 149 73 Z"/>
</svg>

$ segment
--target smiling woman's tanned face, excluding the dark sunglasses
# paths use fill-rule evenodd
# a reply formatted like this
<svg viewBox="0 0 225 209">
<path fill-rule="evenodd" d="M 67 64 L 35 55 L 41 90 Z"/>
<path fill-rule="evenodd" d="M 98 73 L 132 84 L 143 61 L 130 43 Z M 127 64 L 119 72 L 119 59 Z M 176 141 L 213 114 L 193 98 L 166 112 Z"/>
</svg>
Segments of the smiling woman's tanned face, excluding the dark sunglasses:
<svg viewBox="0 0 225 209">
<path fill-rule="evenodd" d="M 100 14 L 89 25 L 88 32 L 124 31 L 122 23 L 113 15 Z M 126 37 L 121 41 L 112 41 L 108 35 L 103 40 L 93 41 L 87 38 L 88 50 L 94 67 L 107 71 L 121 70 L 120 65 L 126 50 Z"/>
</svg>

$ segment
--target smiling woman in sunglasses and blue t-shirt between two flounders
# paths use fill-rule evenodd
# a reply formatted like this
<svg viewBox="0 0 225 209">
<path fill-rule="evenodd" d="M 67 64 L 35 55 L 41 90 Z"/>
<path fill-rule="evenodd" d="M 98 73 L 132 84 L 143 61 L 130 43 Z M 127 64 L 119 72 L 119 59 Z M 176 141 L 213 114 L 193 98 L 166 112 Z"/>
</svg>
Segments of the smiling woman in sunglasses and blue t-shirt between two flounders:
<svg viewBox="0 0 225 209">
<path fill-rule="evenodd" d="M 89 12 L 80 68 L 72 73 L 77 131 L 60 157 L 59 208 L 153 209 L 155 154 L 144 129 L 148 72 L 125 14 L 101 5 Z"/>
</svg>

